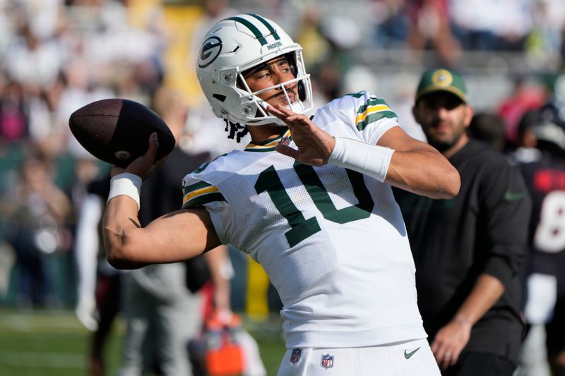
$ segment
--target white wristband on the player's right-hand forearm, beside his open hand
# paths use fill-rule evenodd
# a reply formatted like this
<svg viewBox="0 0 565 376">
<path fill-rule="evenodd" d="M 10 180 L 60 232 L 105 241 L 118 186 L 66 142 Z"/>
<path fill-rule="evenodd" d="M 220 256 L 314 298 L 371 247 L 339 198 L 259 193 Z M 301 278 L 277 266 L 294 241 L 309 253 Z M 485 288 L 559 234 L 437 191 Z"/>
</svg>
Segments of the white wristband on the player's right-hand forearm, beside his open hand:
<svg viewBox="0 0 565 376">
<path fill-rule="evenodd" d="M 394 150 L 352 138 L 335 137 L 328 164 L 335 164 L 384 181 Z"/>
</svg>

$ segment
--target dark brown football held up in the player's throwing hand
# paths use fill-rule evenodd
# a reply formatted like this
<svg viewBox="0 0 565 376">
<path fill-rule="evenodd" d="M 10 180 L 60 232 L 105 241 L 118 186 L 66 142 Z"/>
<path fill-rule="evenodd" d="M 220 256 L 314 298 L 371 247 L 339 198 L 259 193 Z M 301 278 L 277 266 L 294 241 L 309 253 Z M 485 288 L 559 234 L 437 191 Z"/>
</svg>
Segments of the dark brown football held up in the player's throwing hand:
<svg viewBox="0 0 565 376">
<path fill-rule="evenodd" d="M 169 154 L 175 144 L 174 135 L 160 116 L 128 99 L 102 99 L 87 104 L 71 114 L 69 128 L 90 154 L 120 167 L 145 154 L 153 132 L 157 132 L 159 140 L 155 160 Z"/>
</svg>

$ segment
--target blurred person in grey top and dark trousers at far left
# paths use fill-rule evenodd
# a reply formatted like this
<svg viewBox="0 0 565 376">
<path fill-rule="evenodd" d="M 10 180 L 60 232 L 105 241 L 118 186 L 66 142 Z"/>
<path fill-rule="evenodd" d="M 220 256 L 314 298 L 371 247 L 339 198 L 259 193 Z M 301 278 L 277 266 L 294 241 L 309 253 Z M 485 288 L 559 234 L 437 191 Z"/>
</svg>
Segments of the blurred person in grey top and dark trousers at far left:
<svg viewBox="0 0 565 376">
<path fill-rule="evenodd" d="M 16 186 L 6 193 L 6 241 L 16 250 L 18 303 L 42 307 L 54 301 L 47 269 L 49 255 L 69 250 L 71 239 L 64 225 L 71 202 L 53 183 L 52 166 L 39 157 L 22 162 Z"/>
</svg>

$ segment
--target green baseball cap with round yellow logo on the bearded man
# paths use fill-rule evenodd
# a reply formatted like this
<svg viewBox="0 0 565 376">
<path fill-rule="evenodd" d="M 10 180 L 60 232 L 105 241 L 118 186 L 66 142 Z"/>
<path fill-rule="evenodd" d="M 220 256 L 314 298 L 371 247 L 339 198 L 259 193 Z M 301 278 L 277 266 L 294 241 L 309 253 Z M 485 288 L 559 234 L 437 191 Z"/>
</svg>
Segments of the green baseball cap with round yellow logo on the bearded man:
<svg viewBox="0 0 565 376">
<path fill-rule="evenodd" d="M 416 90 L 416 101 L 432 92 L 451 92 L 467 103 L 467 86 L 463 77 L 445 68 L 424 72 Z"/>
</svg>

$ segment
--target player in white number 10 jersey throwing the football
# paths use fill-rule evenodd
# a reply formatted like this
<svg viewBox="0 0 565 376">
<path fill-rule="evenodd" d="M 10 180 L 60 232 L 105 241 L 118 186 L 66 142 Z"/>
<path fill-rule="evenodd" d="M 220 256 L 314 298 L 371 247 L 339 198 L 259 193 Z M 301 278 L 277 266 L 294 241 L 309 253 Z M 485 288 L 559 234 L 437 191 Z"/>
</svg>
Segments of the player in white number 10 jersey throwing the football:
<svg viewBox="0 0 565 376">
<path fill-rule="evenodd" d="M 145 227 L 138 191 L 160 164 L 157 138 L 126 169 L 114 166 L 108 260 L 176 262 L 231 243 L 263 266 L 283 301 L 279 375 L 439 375 L 391 186 L 452 198 L 457 171 L 369 92 L 310 118 L 302 48 L 272 20 L 221 20 L 196 69 L 214 113 L 251 142 L 186 175 L 182 209 Z"/>
</svg>

